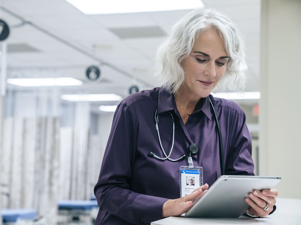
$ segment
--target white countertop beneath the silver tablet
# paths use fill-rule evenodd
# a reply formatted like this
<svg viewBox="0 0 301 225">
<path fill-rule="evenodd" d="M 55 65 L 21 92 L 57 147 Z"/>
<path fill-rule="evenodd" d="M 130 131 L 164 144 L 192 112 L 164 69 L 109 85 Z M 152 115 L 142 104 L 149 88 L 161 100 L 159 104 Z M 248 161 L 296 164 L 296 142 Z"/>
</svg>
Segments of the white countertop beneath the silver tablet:
<svg viewBox="0 0 301 225">
<path fill-rule="evenodd" d="M 277 209 L 265 218 L 250 218 L 241 216 L 239 218 L 186 218 L 185 216 L 168 217 L 151 223 L 151 225 L 194 225 L 194 224 L 253 224 L 264 225 L 301 225 L 301 199 L 277 198 Z"/>
</svg>

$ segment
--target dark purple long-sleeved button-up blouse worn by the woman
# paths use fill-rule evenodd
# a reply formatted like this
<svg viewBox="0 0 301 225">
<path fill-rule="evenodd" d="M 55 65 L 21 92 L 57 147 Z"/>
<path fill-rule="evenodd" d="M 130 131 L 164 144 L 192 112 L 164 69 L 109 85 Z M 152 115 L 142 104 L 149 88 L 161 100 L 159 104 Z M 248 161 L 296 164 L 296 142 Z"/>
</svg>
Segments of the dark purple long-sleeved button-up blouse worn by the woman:
<svg viewBox="0 0 301 225">
<path fill-rule="evenodd" d="M 192 155 L 194 166 L 203 167 L 203 182 L 209 187 L 221 175 L 219 138 L 211 99 L 221 129 L 225 174 L 254 175 L 252 142 L 243 110 L 235 103 L 209 95 L 201 98 L 200 109 L 186 124 L 177 110 L 173 95 L 162 87 L 131 94 L 118 105 L 111 134 L 94 188 L 100 211 L 95 224 L 150 224 L 162 219 L 162 207 L 168 199 L 180 198 L 180 166 L 177 162 L 148 156 L 152 151 L 165 158 L 160 147 L 155 111 L 159 115 L 162 146 L 169 154 L 175 120 L 171 159 L 188 155 L 191 143 L 199 146 Z"/>
</svg>

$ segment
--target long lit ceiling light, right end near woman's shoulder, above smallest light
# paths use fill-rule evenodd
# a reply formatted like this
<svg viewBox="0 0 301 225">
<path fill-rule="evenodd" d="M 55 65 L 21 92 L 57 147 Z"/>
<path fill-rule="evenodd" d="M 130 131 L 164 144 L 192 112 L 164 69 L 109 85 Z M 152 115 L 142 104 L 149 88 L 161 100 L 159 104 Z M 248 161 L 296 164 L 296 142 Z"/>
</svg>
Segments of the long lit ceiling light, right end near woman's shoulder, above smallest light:
<svg viewBox="0 0 301 225">
<path fill-rule="evenodd" d="M 71 102 L 102 102 L 121 101 L 122 97 L 117 94 L 62 94 L 61 99 Z"/>
</svg>

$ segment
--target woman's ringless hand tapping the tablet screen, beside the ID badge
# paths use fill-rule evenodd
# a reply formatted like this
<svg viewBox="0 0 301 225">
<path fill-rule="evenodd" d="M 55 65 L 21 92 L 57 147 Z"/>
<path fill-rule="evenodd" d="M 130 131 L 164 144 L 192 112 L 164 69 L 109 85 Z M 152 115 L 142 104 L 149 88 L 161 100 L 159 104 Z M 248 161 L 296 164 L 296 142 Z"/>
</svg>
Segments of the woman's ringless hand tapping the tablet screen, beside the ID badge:
<svg viewBox="0 0 301 225">
<path fill-rule="evenodd" d="M 186 195 L 179 199 L 167 200 L 162 209 L 162 217 L 169 216 L 180 216 L 190 207 L 195 199 L 201 198 L 208 189 L 208 184 L 205 183 L 203 186 L 198 187 L 189 195 Z"/>
</svg>

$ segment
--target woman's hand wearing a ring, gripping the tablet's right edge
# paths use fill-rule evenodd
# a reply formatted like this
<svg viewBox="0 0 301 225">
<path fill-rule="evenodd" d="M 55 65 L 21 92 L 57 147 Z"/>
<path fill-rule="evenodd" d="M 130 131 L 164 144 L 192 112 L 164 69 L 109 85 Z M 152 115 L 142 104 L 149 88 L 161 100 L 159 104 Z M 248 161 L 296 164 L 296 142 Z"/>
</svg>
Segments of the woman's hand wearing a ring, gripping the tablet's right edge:
<svg viewBox="0 0 301 225">
<path fill-rule="evenodd" d="M 269 215 L 276 204 L 277 196 L 278 191 L 276 189 L 255 190 L 253 193 L 249 193 L 249 198 L 245 198 L 245 201 L 251 208 L 247 212 L 260 217 Z M 269 204 L 269 209 L 263 210 L 267 204 Z"/>
</svg>

